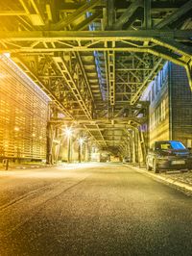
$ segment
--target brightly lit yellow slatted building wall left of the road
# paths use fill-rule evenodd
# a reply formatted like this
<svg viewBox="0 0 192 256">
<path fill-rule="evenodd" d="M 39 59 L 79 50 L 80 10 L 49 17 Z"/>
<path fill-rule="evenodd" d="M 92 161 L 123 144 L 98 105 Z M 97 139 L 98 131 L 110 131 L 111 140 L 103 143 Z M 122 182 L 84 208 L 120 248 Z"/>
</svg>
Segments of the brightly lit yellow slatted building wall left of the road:
<svg viewBox="0 0 192 256">
<path fill-rule="evenodd" d="M 0 55 L 0 160 L 46 158 L 49 98 L 12 62 Z"/>
</svg>

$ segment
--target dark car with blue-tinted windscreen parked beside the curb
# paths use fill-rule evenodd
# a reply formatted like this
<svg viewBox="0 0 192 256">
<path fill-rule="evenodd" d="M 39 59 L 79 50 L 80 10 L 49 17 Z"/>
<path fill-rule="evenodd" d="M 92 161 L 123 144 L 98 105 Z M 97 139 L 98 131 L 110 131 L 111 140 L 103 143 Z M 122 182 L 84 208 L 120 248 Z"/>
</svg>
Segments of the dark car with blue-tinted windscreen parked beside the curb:
<svg viewBox="0 0 192 256">
<path fill-rule="evenodd" d="M 192 154 L 180 141 L 156 141 L 146 159 L 147 169 L 192 169 Z"/>
</svg>

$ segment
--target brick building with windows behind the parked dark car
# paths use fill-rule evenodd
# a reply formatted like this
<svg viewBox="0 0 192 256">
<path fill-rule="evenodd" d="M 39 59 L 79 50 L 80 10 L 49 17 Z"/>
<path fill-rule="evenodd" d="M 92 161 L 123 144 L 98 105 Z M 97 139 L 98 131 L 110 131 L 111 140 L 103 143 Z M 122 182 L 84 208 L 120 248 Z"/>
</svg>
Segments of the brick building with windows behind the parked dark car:
<svg viewBox="0 0 192 256">
<path fill-rule="evenodd" d="M 178 140 L 192 146 L 192 92 L 185 69 L 167 62 L 144 91 L 149 106 L 149 145 Z"/>
</svg>

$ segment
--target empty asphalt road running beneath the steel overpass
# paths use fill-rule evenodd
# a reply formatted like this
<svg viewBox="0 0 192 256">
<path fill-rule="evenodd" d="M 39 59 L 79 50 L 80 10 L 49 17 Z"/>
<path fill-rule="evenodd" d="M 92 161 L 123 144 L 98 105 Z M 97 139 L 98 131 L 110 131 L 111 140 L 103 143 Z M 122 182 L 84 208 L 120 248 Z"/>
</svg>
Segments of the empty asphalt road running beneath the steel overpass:
<svg viewBox="0 0 192 256">
<path fill-rule="evenodd" d="M 192 255 L 192 197 L 122 165 L 1 171 L 0 255 Z"/>
</svg>

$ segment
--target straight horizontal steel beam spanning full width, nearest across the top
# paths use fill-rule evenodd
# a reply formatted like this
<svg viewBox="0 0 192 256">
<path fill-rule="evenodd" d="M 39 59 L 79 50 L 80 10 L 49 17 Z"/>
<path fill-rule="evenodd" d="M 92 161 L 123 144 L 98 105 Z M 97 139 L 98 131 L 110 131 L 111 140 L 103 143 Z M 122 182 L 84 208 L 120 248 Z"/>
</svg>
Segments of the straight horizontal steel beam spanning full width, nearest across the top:
<svg viewBox="0 0 192 256">
<path fill-rule="evenodd" d="M 81 40 L 150 40 L 150 38 L 177 38 L 191 40 L 192 30 L 140 30 L 140 31 L 0 31 L 7 41 L 81 41 Z"/>
</svg>

